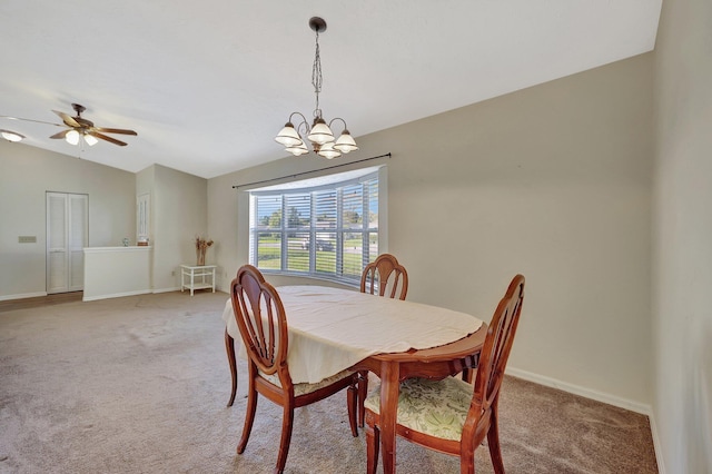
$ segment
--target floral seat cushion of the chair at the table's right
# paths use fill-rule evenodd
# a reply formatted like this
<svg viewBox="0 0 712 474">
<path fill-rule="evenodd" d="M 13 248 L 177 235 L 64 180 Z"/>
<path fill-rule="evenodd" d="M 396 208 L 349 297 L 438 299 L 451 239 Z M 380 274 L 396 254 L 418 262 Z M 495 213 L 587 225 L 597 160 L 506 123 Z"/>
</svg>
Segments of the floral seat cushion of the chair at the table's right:
<svg viewBox="0 0 712 474">
<path fill-rule="evenodd" d="M 407 378 L 400 383 L 397 423 L 431 436 L 459 441 L 472 396 L 473 386 L 459 378 Z M 380 413 L 380 386 L 364 405 Z"/>
</svg>

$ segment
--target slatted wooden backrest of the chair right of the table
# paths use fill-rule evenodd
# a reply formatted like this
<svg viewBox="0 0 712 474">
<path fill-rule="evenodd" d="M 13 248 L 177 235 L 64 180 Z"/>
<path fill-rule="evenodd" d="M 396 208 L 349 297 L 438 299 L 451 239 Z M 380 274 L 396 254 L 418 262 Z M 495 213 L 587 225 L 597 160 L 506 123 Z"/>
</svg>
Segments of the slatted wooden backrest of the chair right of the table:
<svg viewBox="0 0 712 474">
<path fill-rule="evenodd" d="M 496 404 L 500 395 L 504 368 L 512 350 L 523 300 L 524 276 L 517 275 L 510 283 L 507 293 L 492 316 L 487 336 L 479 354 L 473 402 L 467 414 L 468 421 L 476 422 L 475 426 L 469 426 L 469 434 L 473 436 L 477 425 L 485 422 L 488 426 L 491 422 L 492 407 L 493 404 Z M 466 429 L 463 429 L 463 440 L 465 440 Z"/>
</svg>

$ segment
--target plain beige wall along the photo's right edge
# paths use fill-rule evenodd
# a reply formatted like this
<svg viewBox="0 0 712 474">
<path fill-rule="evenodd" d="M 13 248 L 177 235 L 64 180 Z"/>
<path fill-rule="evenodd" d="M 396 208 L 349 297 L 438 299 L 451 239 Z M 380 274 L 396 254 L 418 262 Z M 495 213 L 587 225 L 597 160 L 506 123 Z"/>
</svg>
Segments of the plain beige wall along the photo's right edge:
<svg viewBox="0 0 712 474">
<path fill-rule="evenodd" d="M 655 47 L 654 419 L 668 473 L 712 473 L 712 2 L 663 2 Z"/>
</svg>

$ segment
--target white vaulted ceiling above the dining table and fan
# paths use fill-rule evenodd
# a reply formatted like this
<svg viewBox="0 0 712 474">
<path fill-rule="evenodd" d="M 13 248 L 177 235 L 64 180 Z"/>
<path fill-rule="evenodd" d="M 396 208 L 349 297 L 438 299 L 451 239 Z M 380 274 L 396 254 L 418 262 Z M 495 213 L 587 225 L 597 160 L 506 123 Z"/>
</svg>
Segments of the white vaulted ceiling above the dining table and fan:
<svg viewBox="0 0 712 474">
<path fill-rule="evenodd" d="M 328 120 L 358 137 L 653 49 L 662 0 L 2 0 L 0 116 L 52 109 L 130 128 L 118 147 L 22 144 L 128 171 L 211 178 L 284 158 L 274 136 L 314 110 L 310 17 Z M 295 159 L 323 159 L 313 154 Z"/>
</svg>

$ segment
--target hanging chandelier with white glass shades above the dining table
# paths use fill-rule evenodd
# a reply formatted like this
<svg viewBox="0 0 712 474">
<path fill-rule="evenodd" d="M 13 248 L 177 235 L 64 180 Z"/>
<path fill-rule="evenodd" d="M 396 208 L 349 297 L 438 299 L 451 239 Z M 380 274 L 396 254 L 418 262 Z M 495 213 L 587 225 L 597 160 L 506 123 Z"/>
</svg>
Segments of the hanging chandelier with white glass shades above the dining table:
<svg viewBox="0 0 712 474">
<path fill-rule="evenodd" d="M 343 118 L 336 117 L 327 125 L 326 120 L 324 120 L 324 117 L 322 116 L 322 109 L 319 108 L 319 92 L 322 92 L 319 33 L 326 31 L 326 21 L 319 17 L 313 17 L 309 19 L 309 28 L 316 32 L 316 52 L 314 55 L 314 66 L 312 67 L 312 86 L 314 86 L 314 93 L 316 95 L 314 121 L 309 125 L 306 117 L 301 113 L 291 112 L 289 115 L 289 120 L 285 124 L 285 127 L 279 131 L 277 137 L 275 137 L 275 141 L 284 145 L 286 151 L 298 157 L 309 152 L 309 149 L 301 138 L 301 134 L 304 134 L 312 144 L 312 148 L 315 154 L 324 158 L 332 159 L 340 157 L 342 154 L 357 150 L 358 147 L 356 146 L 354 137 L 352 137 L 352 134 L 346 128 L 346 121 Z M 291 121 L 295 116 L 301 119 L 296 128 Z M 337 120 L 340 120 L 344 124 L 344 129 L 338 139 L 335 140 L 334 132 L 332 131 L 332 125 Z"/>
</svg>

